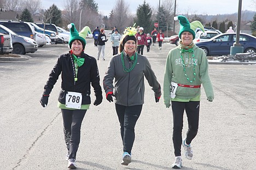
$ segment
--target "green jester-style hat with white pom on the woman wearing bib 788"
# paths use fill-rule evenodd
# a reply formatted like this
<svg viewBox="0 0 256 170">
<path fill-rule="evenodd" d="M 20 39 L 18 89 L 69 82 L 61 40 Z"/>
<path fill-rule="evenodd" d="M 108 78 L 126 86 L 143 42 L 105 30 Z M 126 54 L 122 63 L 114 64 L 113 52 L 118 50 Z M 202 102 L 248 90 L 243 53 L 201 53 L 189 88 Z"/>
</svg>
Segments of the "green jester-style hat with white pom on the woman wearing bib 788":
<svg viewBox="0 0 256 170">
<path fill-rule="evenodd" d="M 85 38 L 83 38 L 81 35 L 84 34 L 84 33 L 78 33 L 77 29 L 75 28 L 75 25 L 74 23 L 70 23 L 68 26 L 69 28 L 69 31 L 70 31 L 70 38 L 68 40 L 68 46 L 69 48 L 71 48 L 71 45 L 73 43 L 74 40 L 79 40 L 82 44 L 83 44 L 83 49 L 85 48 L 85 44 L 86 44 L 86 41 L 85 41 Z M 87 35 L 88 32 L 86 32 L 85 34 L 85 37 Z"/>
</svg>

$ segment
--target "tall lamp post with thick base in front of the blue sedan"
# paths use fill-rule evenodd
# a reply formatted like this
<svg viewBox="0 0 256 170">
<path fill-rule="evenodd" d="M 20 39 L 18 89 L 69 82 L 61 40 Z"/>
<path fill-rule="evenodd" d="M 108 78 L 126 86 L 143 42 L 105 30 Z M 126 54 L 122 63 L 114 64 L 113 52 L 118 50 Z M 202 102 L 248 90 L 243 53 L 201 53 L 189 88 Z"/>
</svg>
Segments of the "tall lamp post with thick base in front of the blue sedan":
<svg viewBox="0 0 256 170">
<path fill-rule="evenodd" d="M 236 42 L 233 44 L 233 46 L 230 47 L 230 55 L 235 55 L 236 53 L 243 52 L 243 47 L 241 44 L 239 44 L 240 25 L 241 25 L 241 9 L 242 9 L 242 0 L 239 0 L 238 13 L 237 13 L 237 26 L 236 26 Z"/>
</svg>

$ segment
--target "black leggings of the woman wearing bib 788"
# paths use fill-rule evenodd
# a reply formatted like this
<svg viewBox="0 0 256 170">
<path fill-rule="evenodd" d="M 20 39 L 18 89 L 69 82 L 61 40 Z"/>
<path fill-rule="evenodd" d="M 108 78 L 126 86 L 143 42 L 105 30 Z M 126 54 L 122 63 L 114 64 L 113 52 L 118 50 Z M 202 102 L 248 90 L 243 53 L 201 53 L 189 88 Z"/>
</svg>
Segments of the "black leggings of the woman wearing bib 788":
<svg viewBox="0 0 256 170">
<path fill-rule="evenodd" d="M 80 129 L 87 110 L 62 109 L 63 130 L 69 157 L 75 159 L 80 143 Z"/>
</svg>

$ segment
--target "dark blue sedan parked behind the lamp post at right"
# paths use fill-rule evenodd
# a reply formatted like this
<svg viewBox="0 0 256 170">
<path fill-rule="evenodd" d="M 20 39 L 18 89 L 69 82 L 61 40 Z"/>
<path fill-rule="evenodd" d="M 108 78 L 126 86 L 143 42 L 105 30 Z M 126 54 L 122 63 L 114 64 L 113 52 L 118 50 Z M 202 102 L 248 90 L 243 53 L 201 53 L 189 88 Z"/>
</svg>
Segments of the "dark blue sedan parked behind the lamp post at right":
<svg viewBox="0 0 256 170">
<path fill-rule="evenodd" d="M 236 33 L 224 33 L 216 35 L 207 41 L 196 42 L 195 44 L 205 51 L 208 55 L 224 55 L 230 54 L 230 47 L 236 41 Z M 256 38 L 249 34 L 240 34 L 240 44 L 243 46 L 243 52 L 255 53 L 256 52 Z"/>
</svg>

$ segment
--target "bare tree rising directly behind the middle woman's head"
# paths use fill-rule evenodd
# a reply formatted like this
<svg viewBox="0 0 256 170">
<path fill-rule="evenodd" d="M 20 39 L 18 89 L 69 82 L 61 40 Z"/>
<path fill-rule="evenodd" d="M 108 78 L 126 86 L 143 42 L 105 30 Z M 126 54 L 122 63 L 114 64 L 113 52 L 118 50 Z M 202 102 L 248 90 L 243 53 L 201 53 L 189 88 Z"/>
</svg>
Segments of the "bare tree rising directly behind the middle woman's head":
<svg viewBox="0 0 256 170">
<path fill-rule="evenodd" d="M 123 32 L 126 27 L 131 26 L 132 17 L 129 16 L 129 4 L 126 4 L 124 0 L 117 0 L 115 1 L 113 11 L 113 26 L 117 26 L 121 32 Z"/>
</svg>

